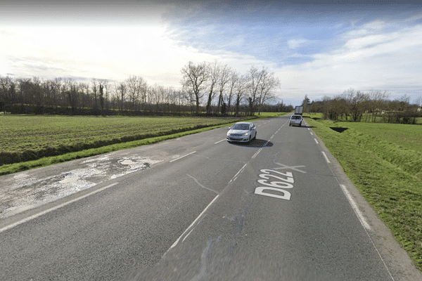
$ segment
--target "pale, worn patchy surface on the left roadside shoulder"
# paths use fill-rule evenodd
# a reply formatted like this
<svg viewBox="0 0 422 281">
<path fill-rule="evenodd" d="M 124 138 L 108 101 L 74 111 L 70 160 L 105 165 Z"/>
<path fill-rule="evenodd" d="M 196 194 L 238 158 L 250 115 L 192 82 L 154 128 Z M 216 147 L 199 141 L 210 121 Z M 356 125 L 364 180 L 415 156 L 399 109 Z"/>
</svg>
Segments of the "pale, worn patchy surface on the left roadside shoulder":
<svg viewBox="0 0 422 281">
<path fill-rule="evenodd" d="M 0 189 L 0 219 L 91 188 L 97 183 L 146 169 L 157 162 L 160 160 L 144 157 L 110 159 L 109 155 L 103 155 L 85 160 L 79 169 L 57 176 L 34 178 L 19 173 L 2 183 L 4 186 Z"/>
</svg>

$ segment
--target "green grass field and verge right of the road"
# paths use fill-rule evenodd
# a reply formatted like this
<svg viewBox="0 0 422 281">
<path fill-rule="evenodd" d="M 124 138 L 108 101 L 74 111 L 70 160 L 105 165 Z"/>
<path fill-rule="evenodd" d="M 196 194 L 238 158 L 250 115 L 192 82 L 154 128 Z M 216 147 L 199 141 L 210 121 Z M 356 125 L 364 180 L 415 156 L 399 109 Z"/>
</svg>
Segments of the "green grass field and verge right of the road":
<svg viewBox="0 0 422 281">
<path fill-rule="evenodd" d="M 422 126 L 305 117 L 422 270 Z"/>
</svg>

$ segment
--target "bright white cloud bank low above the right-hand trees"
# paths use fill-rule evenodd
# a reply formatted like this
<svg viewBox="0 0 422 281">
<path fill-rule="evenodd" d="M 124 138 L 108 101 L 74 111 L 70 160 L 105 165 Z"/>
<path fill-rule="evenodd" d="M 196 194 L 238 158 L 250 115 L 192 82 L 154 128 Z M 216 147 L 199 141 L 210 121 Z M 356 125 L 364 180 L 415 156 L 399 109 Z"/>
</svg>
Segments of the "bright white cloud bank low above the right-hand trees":
<svg viewBox="0 0 422 281">
<path fill-rule="evenodd" d="M 279 68 L 283 89 L 289 95 L 321 98 L 326 93 L 342 93 L 354 88 L 361 91 L 385 89 L 396 91 L 407 86 L 421 87 L 422 25 L 402 28 L 397 32 L 368 35 L 368 30 L 386 27 L 383 22 L 370 22 L 348 32 L 350 38 L 328 53 L 313 55 L 314 60 Z M 357 34 L 361 34 L 356 38 Z M 300 85 L 298 91 L 287 91 Z M 283 91 L 283 90 L 282 90 Z M 284 95 L 286 96 L 286 95 Z"/>
</svg>

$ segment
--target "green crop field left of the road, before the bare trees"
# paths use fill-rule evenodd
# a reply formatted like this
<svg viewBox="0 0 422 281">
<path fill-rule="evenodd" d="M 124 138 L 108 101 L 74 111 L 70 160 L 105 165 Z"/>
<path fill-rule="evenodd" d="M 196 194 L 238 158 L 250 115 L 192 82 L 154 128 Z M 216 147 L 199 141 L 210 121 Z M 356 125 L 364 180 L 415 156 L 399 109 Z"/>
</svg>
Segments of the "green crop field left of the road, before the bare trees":
<svg viewBox="0 0 422 281">
<path fill-rule="evenodd" d="M 37 161 L 43 157 L 55 157 L 71 152 L 93 150 L 107 145 L 130 143 L 146 138 L 159 138 L 174 133 L 192 131 L 210 126 L 237 122 L 245 117 L 69 117 L 45 115 L 0 116 L 0 170 L 8 164 Z M 159 141 L 159 140 L 157 140 Z M 150 142 L 151 143 L 151 142 Z M 133 143 L 132 145 L 141 145 Z M 133 147 L 133 146 L 132 146 Z M 113 148 L 128 148 L 127 145 Z M 70 159 L 92 156 L 109 151 L 91 151 Z M 57 162 L 69 159 L 58 159 Z M 14 171 L 46 166 L 48 163 L 32 163 L 16 166 Z"/>
</svg>

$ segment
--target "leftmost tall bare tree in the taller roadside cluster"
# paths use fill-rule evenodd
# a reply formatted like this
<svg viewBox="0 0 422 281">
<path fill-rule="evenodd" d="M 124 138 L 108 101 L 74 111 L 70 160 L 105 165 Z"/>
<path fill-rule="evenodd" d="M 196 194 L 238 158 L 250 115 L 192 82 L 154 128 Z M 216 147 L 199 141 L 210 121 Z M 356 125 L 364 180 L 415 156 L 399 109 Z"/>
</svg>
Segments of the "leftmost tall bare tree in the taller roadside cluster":
<svg viewBox="0 0 422 281">
<path fill-rule="evenodd" d="M 208 72 L 206 63 L 198 63 L 195 65 L 191 61 L 181 69 L 183 79 L 181 84 L 188 93 L 187 97 L 190 102 L 196 103 L 196 115 L 199 114 L 200 99 L 205 94 L 205 82 L 207 81 Z"/>
</svg>

